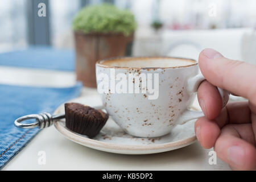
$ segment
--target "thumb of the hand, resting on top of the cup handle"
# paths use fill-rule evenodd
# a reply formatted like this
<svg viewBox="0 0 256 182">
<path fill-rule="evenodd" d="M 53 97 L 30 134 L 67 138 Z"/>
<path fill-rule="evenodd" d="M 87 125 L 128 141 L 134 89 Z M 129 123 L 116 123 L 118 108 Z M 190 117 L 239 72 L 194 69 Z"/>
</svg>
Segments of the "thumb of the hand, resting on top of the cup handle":
<svg viewBox="0 0 256 182">
<path fill-rule="evenodd" d="M 227 59 L 214 49 L 199 55 L 199 67 L 211 84 L 248 98 L 256 105 L 256 66 Z"/>
</svg>

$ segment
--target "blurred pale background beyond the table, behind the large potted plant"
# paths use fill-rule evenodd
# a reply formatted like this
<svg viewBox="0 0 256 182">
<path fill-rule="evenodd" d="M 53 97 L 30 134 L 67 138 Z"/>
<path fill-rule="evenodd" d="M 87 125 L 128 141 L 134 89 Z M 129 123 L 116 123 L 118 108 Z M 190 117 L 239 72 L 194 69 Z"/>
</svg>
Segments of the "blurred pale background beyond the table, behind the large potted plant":
<svg viewBox="0 0 256 182">
<path fill-rule="evenodd" d="M 35 18 L 36 3 L 47 16 Z M 254 0 L 1 0 L 0 52 L 50 46 L 73 49 L 72 20 L 84 6 L 112 3 L 129 9 L 137 21 L 132 55 L 197 59 L 215 48 L 231 59 L 256 64 Z"/>
</svg>

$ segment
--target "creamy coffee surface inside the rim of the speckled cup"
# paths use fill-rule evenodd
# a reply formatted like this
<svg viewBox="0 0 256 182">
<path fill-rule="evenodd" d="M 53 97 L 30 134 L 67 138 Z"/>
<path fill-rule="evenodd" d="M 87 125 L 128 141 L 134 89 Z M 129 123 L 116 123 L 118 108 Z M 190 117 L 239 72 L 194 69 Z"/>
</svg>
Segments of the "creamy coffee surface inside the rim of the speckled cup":
<svg viewBox="0 0 256 182">
<path fill-rule="evenodd" d="M 168 68 L 168 67 L 185 67 L 196 64 L 196 61 L 189 59 L 177 58 L 125 58 L 116 60 L 105 60 L 101 64 L 113 67 L 130 67 L 130 68 Z"/>
</svg>

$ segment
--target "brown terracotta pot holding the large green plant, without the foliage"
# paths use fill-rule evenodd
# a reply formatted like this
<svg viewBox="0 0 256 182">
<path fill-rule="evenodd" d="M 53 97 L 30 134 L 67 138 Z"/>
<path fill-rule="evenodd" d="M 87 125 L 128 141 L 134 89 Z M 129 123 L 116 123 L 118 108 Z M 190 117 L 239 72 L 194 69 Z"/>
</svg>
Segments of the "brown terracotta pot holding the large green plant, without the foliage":
<svg viewBox="0 0 256 182">
<path fill-rule="evenodd" d="M 96 87 L 97 60 L 117 56 L 130 56 L 133 35 L 84 34 L 75 32 L 76 76 L 84 86 Z"/>
</svg>

